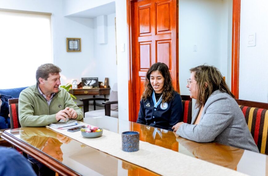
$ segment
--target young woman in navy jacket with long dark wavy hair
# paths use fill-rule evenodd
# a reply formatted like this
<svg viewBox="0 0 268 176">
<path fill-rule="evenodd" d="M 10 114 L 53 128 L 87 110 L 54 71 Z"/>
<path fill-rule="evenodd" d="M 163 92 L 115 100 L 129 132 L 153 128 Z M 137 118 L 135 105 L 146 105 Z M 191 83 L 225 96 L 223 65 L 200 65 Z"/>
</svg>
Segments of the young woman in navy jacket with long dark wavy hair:
<svg viewBox="0 0 268 176">
<path fill-rule="evenodd" d="M 182 120 L 181 96 L 172 86 L 169 68 L 157 62 L 146 73 L 137 123 L 173 131 Z"/>
</svg>

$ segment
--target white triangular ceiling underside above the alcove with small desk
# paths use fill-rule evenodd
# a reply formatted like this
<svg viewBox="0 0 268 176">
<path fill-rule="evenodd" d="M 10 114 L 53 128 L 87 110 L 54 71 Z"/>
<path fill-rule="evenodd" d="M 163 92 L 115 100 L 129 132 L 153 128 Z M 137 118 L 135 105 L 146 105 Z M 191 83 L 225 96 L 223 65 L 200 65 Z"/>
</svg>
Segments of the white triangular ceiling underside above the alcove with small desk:
<svg viewBox="0 0 268 176">
<path fill-rule="evenodd" d="M 79 17 L 79 18 L 95 18 L 101 15 L 109 15 L 116 13 L 116 3 L 110 2 L 108 4 L 104 4 L 102 6 L 97 6 L 92 9 L 87 9 L 81 12 L 77 12 L 71 15 L 67 15 L 68 17 Z"/>
</svg>

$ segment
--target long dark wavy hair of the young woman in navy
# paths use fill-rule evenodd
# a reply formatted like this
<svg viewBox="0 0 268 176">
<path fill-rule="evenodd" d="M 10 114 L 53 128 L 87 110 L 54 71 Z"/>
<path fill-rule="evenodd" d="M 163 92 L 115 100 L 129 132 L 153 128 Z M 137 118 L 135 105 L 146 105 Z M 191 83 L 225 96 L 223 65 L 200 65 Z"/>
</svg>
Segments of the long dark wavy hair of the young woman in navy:
<svg viewBox="0 0 268 176">
<path fill-rule="evenodd" d="M 162 94 L 162 103 L 169 102 L 171 99 L 173 99 L 174 88 L 172 85 L 172 79 L 169 73 L 169 68 L 166 64 L 161 62 L 153 64 L 147 71 L 144 82 L 144 91 L 143 94 L 141 95 L 141 98 L 144 99 L 145 101 L 152 94 L 153 88 L 150 82 L 150 76 L 153 71 L 159 71 L 164 77 L 164 90 Z"/>
</svg>

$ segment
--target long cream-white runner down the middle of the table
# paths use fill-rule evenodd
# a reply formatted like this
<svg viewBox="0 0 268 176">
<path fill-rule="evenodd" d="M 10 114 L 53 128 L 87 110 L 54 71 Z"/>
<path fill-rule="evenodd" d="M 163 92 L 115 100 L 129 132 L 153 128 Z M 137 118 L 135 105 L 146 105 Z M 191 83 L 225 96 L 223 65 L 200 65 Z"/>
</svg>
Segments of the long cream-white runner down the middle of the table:
<svg viewBox="0 0 268 176">
<path fill-rule="evenodd" d="M 83 122 L 79 123 L 85 124 Z M 67 132 L 67 130 L 51 129 L 85 145 L 160 175 L 245 175 L 144 141 L 140 141 L 139 151 L 123 152 L 121 134 L 105 129 L 103 130 L 103 135 L 97 138 L 85 138 L 81 135 L 80 131 Z"/>
</svg>

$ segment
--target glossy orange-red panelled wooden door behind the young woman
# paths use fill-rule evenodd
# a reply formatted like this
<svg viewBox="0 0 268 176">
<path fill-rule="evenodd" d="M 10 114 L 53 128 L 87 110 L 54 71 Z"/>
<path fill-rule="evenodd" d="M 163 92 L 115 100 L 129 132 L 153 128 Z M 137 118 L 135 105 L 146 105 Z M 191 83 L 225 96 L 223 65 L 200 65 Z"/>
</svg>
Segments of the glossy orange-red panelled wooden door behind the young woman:
<svg viewBox="0 0 268 176">
<path fill-rule="evenodd" d="M 131 65 L 129 120 L 136 122 L 145 75 L 150 66 L 169 67 L 173 86 L 179 92 L 178 4 L 176 0 L 130 1 Z"/>
</svg>

